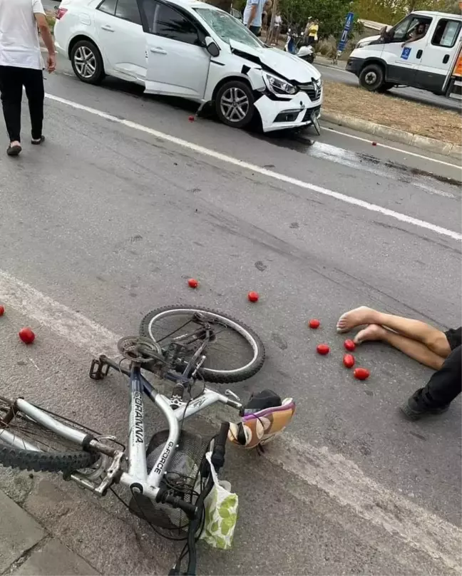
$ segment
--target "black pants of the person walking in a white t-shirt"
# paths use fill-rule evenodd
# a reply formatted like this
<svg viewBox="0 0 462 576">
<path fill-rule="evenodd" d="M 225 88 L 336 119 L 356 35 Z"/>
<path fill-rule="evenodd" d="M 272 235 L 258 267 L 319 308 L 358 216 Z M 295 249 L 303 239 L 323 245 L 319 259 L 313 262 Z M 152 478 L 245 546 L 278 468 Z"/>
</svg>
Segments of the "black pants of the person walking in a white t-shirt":
<svg viewBox="0 0 462 576">
<path fill-rule="evenodd" d="M 4 110 L 6 130 L 11 142 L 21 141 L 21 101 L 23 86 L 29 101 L 32 138 L 39 140 L 43 125 L 43 73 L 33 68 L 0 66 L 1 104 Z"/>
</svg>

